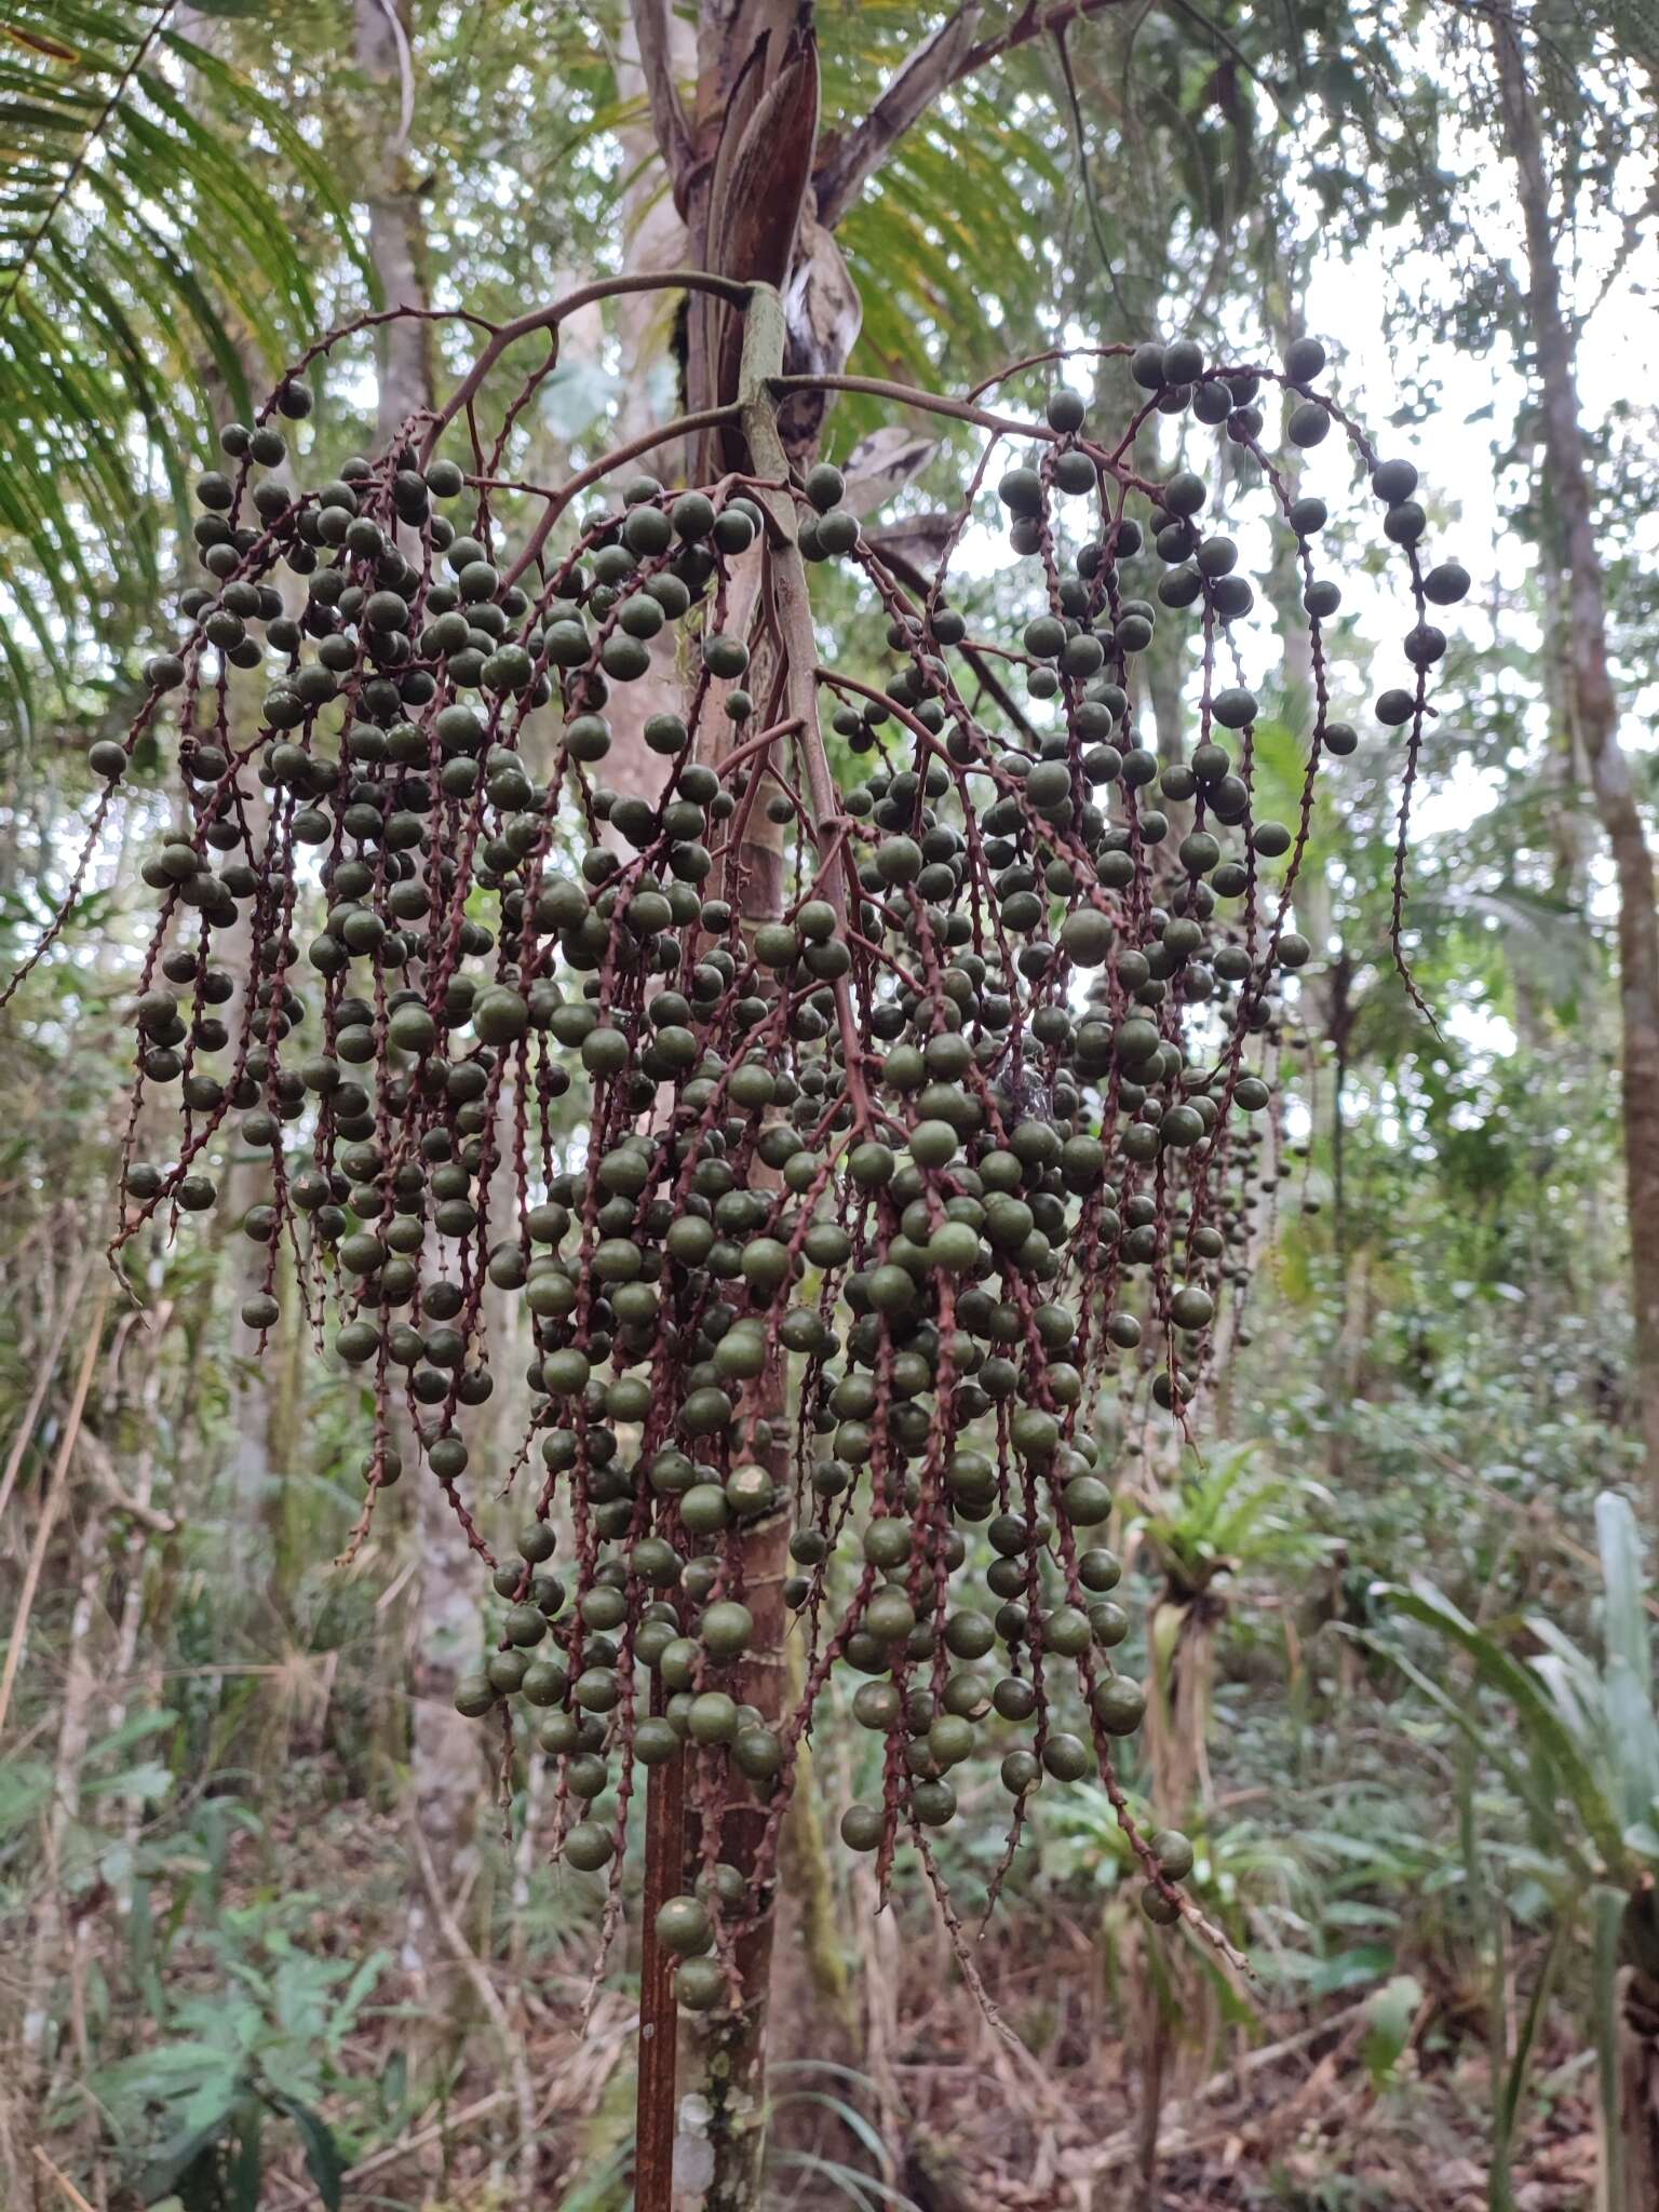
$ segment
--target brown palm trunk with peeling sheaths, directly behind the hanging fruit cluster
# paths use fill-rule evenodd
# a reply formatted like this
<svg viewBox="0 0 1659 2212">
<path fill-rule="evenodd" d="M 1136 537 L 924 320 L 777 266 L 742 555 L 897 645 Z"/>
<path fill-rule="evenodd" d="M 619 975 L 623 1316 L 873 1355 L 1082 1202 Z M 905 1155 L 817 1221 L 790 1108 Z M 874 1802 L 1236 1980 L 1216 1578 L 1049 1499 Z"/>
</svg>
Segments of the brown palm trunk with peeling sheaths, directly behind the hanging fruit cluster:
<svg viewBox="0 0 1659 2212">
<path fill-rule="evenodd" d="M 956 9 L 896 71 L 863 119 L 821 137 L 812 0 L 699 0 L 695 35 L 670 0 L 633 0 L 624 71 L 633 73 L 644 93 L 677 223 L 661 197 L 650 219 L 641 210 L 630 230 L 630 268 L 672 265 L 681 259 L 684 234 L 686 263 L 772 285 L 783 310 L 779 316 L 776 303 L 757 299 L 745 319 L 719 299 L 692 296 L 681 365 L 686 405 L 699 409 L 739 396 L 741 380 L 757 369 L 768 374 L 759 367 L 768 356 L 770 374 L 779 367 L 818 374 L 843 369 L 858 338 L 860 305 L 834 241 L 834 223 L 902 133 L 953 82 L 1006 46 L 1042 38 L 1057 20 L 1091 13 L 1099 4 L 1106 0 L 1071 0 L 1051 11 L 1031 7 L 1009 29 L 978 42 L 984 11 L 978 4 Z M 776 327 L 768 330 L 763 345 L 754 345 L 757 334 L 745 323 L 752 325 L 761 310 Z M 637 312 L 650 310 L 641 305 Z M 630 352 L 630 358 L 641 356 Z M 743 429 L 712 434 L 701 453 L 688 456 L 688 469 L 712 476 L 748 462 L 761 476 L 779 478 L 792 462 L 805 465 L 814 456 L 825 407 L 825 394 L 796 394 L 774 411 L 761 394 L 759 407 L 745 409 Z M 772 593 L 790 664 L 785 712 L 816 732 L 812 613 L 794 546 L 794 509 L 787 498 L 768 504 L 765 588 Z M 646 796 L 661 790 L 664 765 L 644 750 L 637 732 L 646 714 L 675 703 L 675 688 L 677 670 L 664 655 L 653 677 L 628 686 L 626 703 L 619 701 L 606 759 L 608 781 L 617 790 Z M 765 695 L 759 672 L 752 688 L 759 697 Z M 821 761 L 818 752 L 818 765 Z M 812 763 L 803 761 L 803 768 L 810 779 Z M 834 812 L 832 794 L 816 787 L 810 805 L 821 818 Z M 763 834 L 763 810 L 757 807 L 752 818 L 757 836 Z M 745 847 L 741 865 L 743 918 L 759 922 L 774 916 L 783 898 L 779 854 Z M 785 1688 L 785 1517 L 774 1515 L 750 1533 L 743 1557 L 743 1590 L 757 1635 L 739 1694 L 759 1705 L 768 1721 L 779 1714 Z M 748 1867 L 757 1834 L 759 1807 L 734 1803 L 723 1823 L 721 1856 Z M 776 1913 L 761 1918 L 741 1947 L 741 2020 L 686 2048 L 675 2203 L 688 2212 L 750 2212 L 763 2201 L 765 2008 L 774 1920 Z M 805 1978 L 796 1980 L 805 1986 Z"/>
</svg>

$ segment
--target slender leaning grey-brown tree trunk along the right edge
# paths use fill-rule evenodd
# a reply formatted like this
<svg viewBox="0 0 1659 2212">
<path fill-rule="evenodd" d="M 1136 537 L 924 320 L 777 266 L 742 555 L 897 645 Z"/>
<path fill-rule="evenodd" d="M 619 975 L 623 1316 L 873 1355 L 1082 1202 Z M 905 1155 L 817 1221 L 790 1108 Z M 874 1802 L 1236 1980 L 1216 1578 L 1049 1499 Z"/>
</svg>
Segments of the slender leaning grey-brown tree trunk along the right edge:
<svg viewBox="0 0 1659 2212">
<path fill-rule="evenodd" d="M 1595 810 L 1619 885 L 1619 1029 L 1624 1179 L 1630 1217 L 1635 1371 L 1648 1498 L 1659 1506 L 1659 916 L 1648 832 L 1619 743 L 1608 672 L 1608 608 L 1595 542 L 1590 465 L 1579 420 L 1577 334 L 1562 301 L 1551 181 L 1526 58 L 1509 15 L 1491 18 L 1504 142 L 1526 223 L 1533 372 L 1544 422 L 1544 476 L 1566 571 L 1566 697 Z"/>
</svg>

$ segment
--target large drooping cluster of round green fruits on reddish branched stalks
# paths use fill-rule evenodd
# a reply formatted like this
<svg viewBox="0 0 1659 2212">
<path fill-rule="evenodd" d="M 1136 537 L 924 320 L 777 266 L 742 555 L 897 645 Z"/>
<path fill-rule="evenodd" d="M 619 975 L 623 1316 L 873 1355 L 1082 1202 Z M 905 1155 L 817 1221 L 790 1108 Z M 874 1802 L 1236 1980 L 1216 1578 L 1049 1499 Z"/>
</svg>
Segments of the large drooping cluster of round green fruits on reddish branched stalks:
<svg viewBox="0 0 1659 2212">
<path fill-rule="evenodd" d="M 838 471 L 787 467 L 776 407 L 803 380 L 779 374 L 776 294 L 655 281 L 743 307 L 741 389 L 562 487 L 515 480 L 509 451 L 571 301 L 467 316 L 484 345 L 453 398 L 312 489 L 259 471 L 288 458 L 279 420 L 310 411 L 312 365 L 376 319 L 226 427 L 234 467 L 199 484 L 206 582 L 128 741 L 91 750 L 108 792 L 88 849 L 137 741 L 175 737 L 184 827 L 144 865 L 159 916 L 113 1250 L 212 1208 L 232 1144 L 270 1159 L 241 1223 L 270 1267 L 243 1316 L 274 1325 L 288 1243 L 319 1356 L 372 1378 L 354 1542 L 407 1473 L 403 1400 L 420 1480 L 493 1593 L 458 1703 L 555 1763 L 555 1843 L 606 1885 L 606 1929 L 637 1772 L 675 1770 L 697 1876 L 677 1887 L 657 1856 L 653 1944 L 679 1960 L 677 2002 L 732 2033 L 834 1674 L 858 1677 L 872 1736 L 841 1834 L 883 1891 L 909 1843 L 942 1896 L 929 1829 L 956 1818 L 951 1772 L 995 1752 L 1002 1871 L 1046 1792 L 1099 1776 L 1148 1916 L 1203 1927 L 1190 1845 L 1144 1834 L 1119 1778 L 1144 1697 L 1115 1663 L 1130 1619 L 1099 1540 L 1117 1469 L 1095 1413 L 1148 1394 L 1186 1425 L 1217 1307 L 1248 1287 L 1256 1117 L 1314 953 L 1296 872 L 1318 779 L 1358 743 L 1332 712 L 1325 502 L 1274 467 L 1263 398 L 1285 396 L 1301 447 L 1340 434 L 1405 568 L 1407 681 L 1374 703 L 1402 745 L 1402 823 L 1444 653 L 1431 608 L 1467 575 L 1425 571 L 1416 469 L 1321 396 L 1318 345 L 1267 369 L 1177 341 L 1121 358 L 1124 414 L 1099 436 L 1066 389 L 1026 420 L 818 378 L 987 440 L 916 595 Z M 513 385 L 529 336 L 546 347 Z M 1239 544 L 1199 473 L 1141 473 L 1157 414 L 1190 414 L 1192 447 L 1230 442 L 1225 480 L 1296 542 L 1314 719 L 1294 825 L 1254 805 Z M 653 445 L 708 429 L 741 440 L 741 467 L 684 491 L 635 476 L 577 515 Z M 975 637 L 949 571 L 1009 445 L 995 500 L 1033 613 Z M 845 562 L 885 624 L 883 681 L 821 661 L 821 562 Z M 1197 745 L 1159 765 L 1135 670 L 1179 619 Z M 619 796 L 597 774 L 606 701 L 668 626 L 690 679 L 646 726 L 664 787 Z M 1013 714 L 962 688 L 987 666 L 1004 699 L 1024 686 Z M 261 692 L 239 743 L 243 686 Z M 825 714 L 865 781 L 838 779 Z M 776 898 L 757 920 L 761 849 Z M 259 980 L 228 1024 L 215 936 L 239 920 Z M 1398 927 L 1396 902 L 1396 951 Z M 177 1144 L 139 1159 L 153 1093 L 177 1099 Z M 467 1440 L 498 1383 L 484 1283 L 524 1298 L 535 1347 L 507 1469 Z M 518 1533 L 498 1553 L 502 1486 Z M 779 1515 L 805 1650 L 787 1712 L 750 1694 L 776 1657 L 757 1533 Z"/>
</svg>

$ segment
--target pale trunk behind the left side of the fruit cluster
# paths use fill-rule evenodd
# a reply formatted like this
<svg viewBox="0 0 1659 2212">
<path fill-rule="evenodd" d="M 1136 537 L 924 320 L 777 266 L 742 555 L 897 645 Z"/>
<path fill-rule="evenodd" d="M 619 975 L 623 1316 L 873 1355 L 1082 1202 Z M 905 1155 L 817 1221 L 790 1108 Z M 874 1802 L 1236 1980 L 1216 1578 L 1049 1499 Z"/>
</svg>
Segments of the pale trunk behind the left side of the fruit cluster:
<svg viewBox="0 0 1659 2212">
<path fill-rule="evenodd" d="M 358 69 L 369 80 L 358 142 L 369 254 L 387 307 L 425 307 L 427 239 L 407 155 L 416 91 L 407 0 L 354 0 L 354 40 Z M 431 325 L 385 325 L 378 332 L 380 442 L 431 405 Z M 411 1489 L 418 1564 L 409 1582 L 409 1816 L 453 1905 L 471 1876 L 478 1807 L 489 1801 L 478 1730 L 453 1708 L 456 1679 L 478 1652 L 476 1559 L 438 1482 L 427 1478 Z M 403 1491 L 389 1502 L 398 1498 Z M 449 2000 L 460 2000 L 462 1982 L 456 1980 L 453 1944 L 420 1885 L 411 1885 L 405 1964 L 416 2002 L 445 2035 L 458 2008 Z"/>
</svg>

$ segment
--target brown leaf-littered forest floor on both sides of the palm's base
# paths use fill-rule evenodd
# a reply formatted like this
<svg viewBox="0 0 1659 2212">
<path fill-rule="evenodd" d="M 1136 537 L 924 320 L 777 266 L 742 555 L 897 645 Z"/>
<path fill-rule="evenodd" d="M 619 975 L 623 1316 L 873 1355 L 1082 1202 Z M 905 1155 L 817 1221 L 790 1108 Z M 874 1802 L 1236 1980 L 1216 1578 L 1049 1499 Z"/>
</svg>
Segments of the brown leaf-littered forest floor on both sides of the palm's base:
<svg viewBox="0 0 1659 2212">
<path fill-rule="evenodd" d="M 290 1798 L 257 1825 L 259 1838 L 232 1843 L 217 1920 L 184 1916 L 164 1980 L 170 1997 L 206 1995 L 223 1966 L 223 1931 L 257 1929 L 283 1902 L 303 1920 L 283 1922 L 272 1958 L 292 1958 L 290 1947 L 352 1962 L 378 1953 L 374 2002 L 336 2051 L 334 2093 L 319 2095 L 345 2154 L 356 2154 L 347 2212 L 529 2212 L 529 2203 L 626 2212 L 635 2002 L 622 1953 L 591 1989 L 591 1911 L 573 1913 L 568 1889 L 562 1909 L 557 1891 L 538 1891 L 526 1924 L 515 1924 L 515 1960 L 451 1955 L 440 1982 L 422 1984 L 403 1944 L 407 1860 L 394 1818 L 361 1801 L 301 1812 Z M 166 1893 L 153 1905 L 166 1922 Z M 491 1916 L 498 1927 L 504 1905 Z M 1148 2179 L 1146 2055 L 1159 2048 L 1148 1991 L 1161 1964 L 1139 1938 L 1108 1958 L 1097 1907 L 1020 1900 L 978 1953 L 995 2004 L 1020 2031 L 1004 2037 L 962 1986 L 920 1900 L 900 1918 L 898 1933 L 863 1944 L 838 2035 L 810 1991 L 785 1982 L 779 1995 L 768 2212 L 1484 2212 L 1489 2203 L 1491 2066 L 1480 2008 L 1453 1986 L 1416 1997 L 1380 2066 L 1363 1997 L 1259 2008 L 1245 2035 L 1212 2006 L 1206 2020 L 1199 1982 L 1199 2002 L 1161 2055 Z M 113 1955 L 108 1966 L 119 1986 Z M 484 1978 L 504 2004 L 493 2020 L 478 1995 Z M 502 2064 L 502 2020 L 518 2039 L 515 2066 Z M 155 2026 L 135 2026 L 137 2048 L 153 2042 Z M 442 2099 L 418 2097 L 396 2115 L 383 2104 L 374 2124 L 365 2088 L 434 2062 L 447 2073 Z M 1590 2088 L 1588 2053 L 1551 2024 L 1513 2152 L 1515 2212 L 1590 2205 Z M 529 2201 L 513 2152 L 526 2099 L 540 2146 Z M 84 2132 L 44 2150 L 62 2181 L 102 2172 L 111 2212 L 142 2201 L 111 2188 L 115 2177 Z M 268 2137 L 265 2154 L 261 2208 L 316 2205 L 292 2139 Z M 38 2201 L 60 2203 L 51 2188 Z"/>
</svg>

